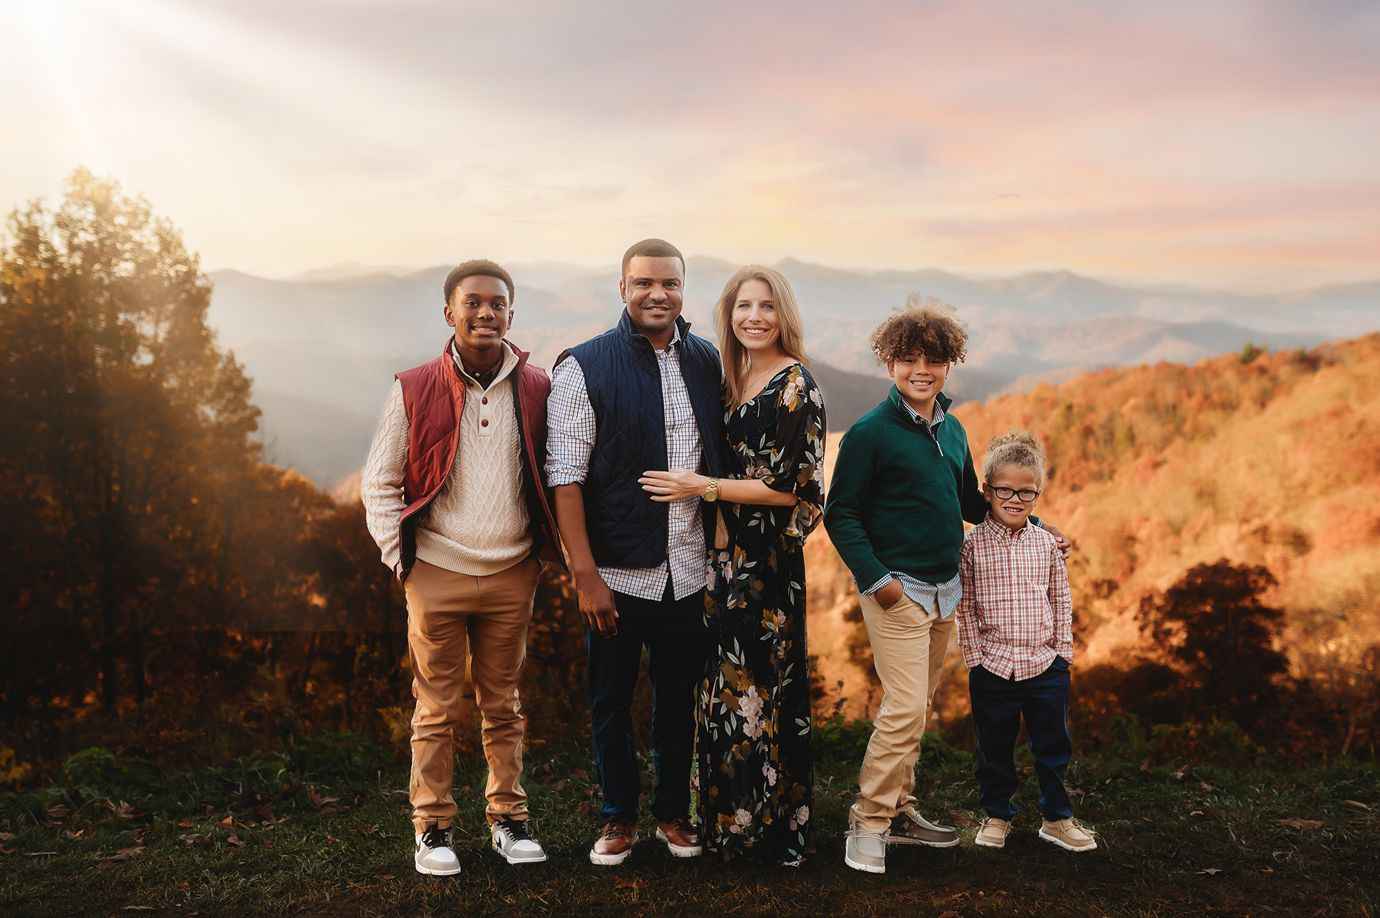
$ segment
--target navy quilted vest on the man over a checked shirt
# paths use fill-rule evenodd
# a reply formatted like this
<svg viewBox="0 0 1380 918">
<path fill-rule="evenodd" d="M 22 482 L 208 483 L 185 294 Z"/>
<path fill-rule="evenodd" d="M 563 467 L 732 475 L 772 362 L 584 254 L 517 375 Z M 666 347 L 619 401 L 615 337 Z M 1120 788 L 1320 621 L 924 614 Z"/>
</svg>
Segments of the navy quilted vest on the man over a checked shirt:
<svg viewBox="0 0 1380 918">
<path fill-rule="evenodd" d="M 680 328 L 680 375 L 690 393 L 696 426 L 704 444 L 696 471 L 723 476 L 723 371 L 713 345 Z M 595 409 L 595 448 L 585 477 L 585 529 L 595 564 L 613 568 L 654 568 L 667 560 L 664 503 L 651 500 L 638 478 L 667 470 L 667 427 L 661 402 L 661 368 L 651 342 L 632 325 L 627 310 L 617 328 L 571 347 Z M 701 503 L 705 538 L 713 538 L 713 504 Z"/>
</svg>

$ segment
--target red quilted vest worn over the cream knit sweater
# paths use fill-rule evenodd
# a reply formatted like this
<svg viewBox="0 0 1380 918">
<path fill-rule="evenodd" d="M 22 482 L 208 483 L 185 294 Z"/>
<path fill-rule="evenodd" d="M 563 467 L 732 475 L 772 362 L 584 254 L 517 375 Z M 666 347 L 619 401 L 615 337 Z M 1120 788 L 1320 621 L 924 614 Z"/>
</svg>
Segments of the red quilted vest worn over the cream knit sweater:
<svg viewBox="0 0 1380 918">
<path fill-rule="evenodd" d="M 551 378 L 541 367 L 527 364 L 526 351 L 518 350 L 508 340 L 504 345 L 518 354 L 518 367 L 512 372 L 516 386 L 513 407 L 522 441 L 522 471 L 533 549 L 542 561 L 564 567 L 556 517 L 551 511 L 551 498 L 541 478 L 546 463 L 546 396 L 551 394 Z M 399 533 L 406 578 L 417 561 L 417 522 L 446 484 L 455 463 L 460 415 L 465 409 L 465 383 L 450 354 L 450 340 L 440 357 L 397 374 L 397 382 L 403 387 L 408 425 L 407 470 L 403 474 L 403 499 L 407 507 L 403 510 Z"/>
</svg>

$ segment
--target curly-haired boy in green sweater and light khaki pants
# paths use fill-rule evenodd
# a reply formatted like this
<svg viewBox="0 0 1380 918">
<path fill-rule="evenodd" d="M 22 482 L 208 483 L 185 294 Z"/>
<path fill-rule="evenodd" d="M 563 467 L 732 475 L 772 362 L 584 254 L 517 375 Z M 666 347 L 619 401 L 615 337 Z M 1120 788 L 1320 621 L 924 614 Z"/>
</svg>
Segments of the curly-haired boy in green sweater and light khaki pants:
<svg viewBox="0 0 1380 918">
<path fill-rule="evenodd" d="M 850 812 L 843 861 L 886 873 L 886 846 L 959 842 L 915 812 L 915 761 L 962 597 L 963 521 L 987 518 L 967 434 L 943 393 L 967 353 L 956 310 L 912 294 L 872 332 L 872 353 L 896 380 L 887 398 L 843 436 L 824 525 L 849 565 L 882 682 Z M 1035 517 L 1031 522 L 1041 524 Z M 1068 540 L 1045 527 L 1068 551 Z"/>
</svg>

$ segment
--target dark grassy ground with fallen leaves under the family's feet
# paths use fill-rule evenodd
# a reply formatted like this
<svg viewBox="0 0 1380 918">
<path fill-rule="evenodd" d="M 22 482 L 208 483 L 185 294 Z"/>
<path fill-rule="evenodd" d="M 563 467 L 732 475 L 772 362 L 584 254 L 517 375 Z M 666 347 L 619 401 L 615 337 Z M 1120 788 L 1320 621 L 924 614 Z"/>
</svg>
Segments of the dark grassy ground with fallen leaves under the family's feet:
<svg viewBox="0 0 1380 918">
<path fill-rule="evenodd" d="M 925 773 L 923 812 L 977 817 L 972 765 L 949 758 Z M 402 772 L 299 775 L 309 784 L 286 788 L 291 775 L 262 769 L 189 773 L 109 805 L 91 787 L 11 794 L 0 798 L 0 914 L 1380 917 L 1374 765 L 1177 776 L 1075 762 L 1076 816 L 1096 828 L 1100 850 L 1039 841 L 1038 822 L 1024 816 L 1003 850 L 973 846 L 966 827 L 958 848 L 893 849 L 885 875 L 843 866 L 856 766 L 820 768 L 816 857 L 769 870 L 672 859 L 646 816 L 650 838 L 627 863 L 591 866 L 592 768 L 574 757 L 529 762 L 551 857 L 509 867 L 489 846 L 476 765 L 457 771 L 464 873 L 450 878 L 413 870 L 406 794 L 395 790 L 406 787 Z M 1028 813 L 1036 797 L 1027 777 L 1017 805 Z"/>
</svg>

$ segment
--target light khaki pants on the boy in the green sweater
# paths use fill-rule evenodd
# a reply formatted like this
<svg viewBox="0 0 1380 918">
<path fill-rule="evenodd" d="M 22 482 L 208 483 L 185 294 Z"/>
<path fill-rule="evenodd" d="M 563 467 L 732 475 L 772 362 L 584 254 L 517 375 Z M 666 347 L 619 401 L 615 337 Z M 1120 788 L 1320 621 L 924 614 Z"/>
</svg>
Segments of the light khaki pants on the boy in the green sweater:
<svg viewBox="0 0 1380 918">
<path fill-rule="evenodd" d="M 954 616 L 941 619 L 937 606 L 926 612 L 905 594 L 890 609 L 869 595 L 858 598 L 882 681 L 882 710 L 862 757 L 850 816 L 868 831 L 885 833 L 897 813 L 914 812 L 915 759 L 944 670 Z"/>
</svg>

